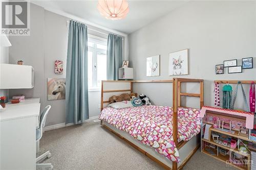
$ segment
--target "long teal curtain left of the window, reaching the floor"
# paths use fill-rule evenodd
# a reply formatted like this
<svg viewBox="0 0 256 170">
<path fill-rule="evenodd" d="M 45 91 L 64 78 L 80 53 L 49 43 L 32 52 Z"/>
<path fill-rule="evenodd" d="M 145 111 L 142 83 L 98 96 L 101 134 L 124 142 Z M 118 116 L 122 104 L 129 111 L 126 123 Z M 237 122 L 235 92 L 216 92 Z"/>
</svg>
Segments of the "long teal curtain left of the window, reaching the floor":
<svg viewBox="0 0 256 170">
<path fill-rule="evenodd" d="M 66 71 L 66 124 L 83 123 L 89 118 L 87 39 L 87 26 L 71 20 Z"/>
</svg>

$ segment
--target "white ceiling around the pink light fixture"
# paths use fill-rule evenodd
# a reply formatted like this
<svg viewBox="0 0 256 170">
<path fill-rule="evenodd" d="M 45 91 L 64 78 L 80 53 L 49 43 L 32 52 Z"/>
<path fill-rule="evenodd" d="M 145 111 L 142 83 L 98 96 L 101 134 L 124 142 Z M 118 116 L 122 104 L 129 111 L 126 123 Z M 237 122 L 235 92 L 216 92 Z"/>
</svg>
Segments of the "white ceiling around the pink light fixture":
<svg viewBox="0 0 256 170">
<path fill-rule="evenodd" d="M 182 6 L 187 1 L 128 1 L 130 12 L 121 20 L 110 20 L 101 16 L 97 10 L 97 1 L 32 0 L 31 2 L 46 9 L 63 11 L 96 25 L 130 34 Z"/>
</svg>

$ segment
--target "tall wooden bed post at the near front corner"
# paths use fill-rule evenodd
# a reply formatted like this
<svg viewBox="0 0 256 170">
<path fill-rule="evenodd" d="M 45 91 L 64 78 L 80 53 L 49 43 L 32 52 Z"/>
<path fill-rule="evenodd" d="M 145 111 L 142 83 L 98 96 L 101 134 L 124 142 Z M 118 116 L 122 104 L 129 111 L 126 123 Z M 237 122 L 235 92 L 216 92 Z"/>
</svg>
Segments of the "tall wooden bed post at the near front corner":
<svg viewBox="0 0 256 170">
<path fill-rule="evenodd" d="M 178 79 L 173 78 L 173 138 L 178 145 Z M 173 170 L 177 170 L 177 162 L 173 162 Z"/>
</svg>

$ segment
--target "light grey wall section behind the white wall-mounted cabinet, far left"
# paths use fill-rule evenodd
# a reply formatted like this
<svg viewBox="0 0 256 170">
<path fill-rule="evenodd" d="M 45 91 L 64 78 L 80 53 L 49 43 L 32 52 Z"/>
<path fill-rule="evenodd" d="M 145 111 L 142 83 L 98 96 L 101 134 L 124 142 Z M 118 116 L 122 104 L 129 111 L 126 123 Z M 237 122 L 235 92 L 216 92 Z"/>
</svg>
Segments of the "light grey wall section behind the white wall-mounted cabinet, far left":
<svg viewBox="0 0 256 170">
<path fill-rule="evenodd" d="M 10 36 L 12 44 L 9 48 L 9 63 L 16 64 L 23 60 L 24 65 L 32 65 L 35 69 L 34 88 L 10 89 L 10 98 L 16 94 L 24 94 L 25 98 L 40 98 L 41 108 L 44 107 L 44 9 L 31 4 L 30 36 Z"/>
</svg>

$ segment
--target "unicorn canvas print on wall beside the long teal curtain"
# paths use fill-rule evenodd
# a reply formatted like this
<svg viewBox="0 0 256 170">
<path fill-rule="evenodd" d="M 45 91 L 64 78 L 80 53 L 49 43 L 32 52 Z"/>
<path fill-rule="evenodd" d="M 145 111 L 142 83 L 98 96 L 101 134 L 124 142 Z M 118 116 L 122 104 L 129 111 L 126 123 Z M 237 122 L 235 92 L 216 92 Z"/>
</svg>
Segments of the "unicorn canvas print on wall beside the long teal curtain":
<svg viewBox="0 0 256 170">
<path fill-rule="evenodd" d="M 66 99 L 66 79 L 48 78 L 48 101 Z"/>
</svg>

